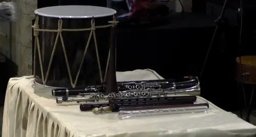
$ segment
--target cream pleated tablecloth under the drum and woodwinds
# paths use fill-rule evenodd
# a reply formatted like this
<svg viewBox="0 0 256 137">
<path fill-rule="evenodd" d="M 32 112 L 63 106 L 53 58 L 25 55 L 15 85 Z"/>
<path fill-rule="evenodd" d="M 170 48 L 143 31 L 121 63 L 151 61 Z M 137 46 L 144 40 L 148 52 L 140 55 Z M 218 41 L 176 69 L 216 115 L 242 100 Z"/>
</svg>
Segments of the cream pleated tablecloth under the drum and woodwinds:
<svg viewBox="0 0 256 137">
<path fill-rule="evenodd" d="M 118 81 L 159 79 L 152 70 L 117 72 Z M 206 101 L 198 97 L 197 102 Z M 209 102 L 210 103 L 210 102 Z M 51 89 L 32 76 L 9 80 L 3 137 L 9 136 L 255 136 L 256 127 L 210 103 L 209 112 L 119 120 L 116 113 L 80 112 L 79 105 L 56 104 Z"/>
</svg>

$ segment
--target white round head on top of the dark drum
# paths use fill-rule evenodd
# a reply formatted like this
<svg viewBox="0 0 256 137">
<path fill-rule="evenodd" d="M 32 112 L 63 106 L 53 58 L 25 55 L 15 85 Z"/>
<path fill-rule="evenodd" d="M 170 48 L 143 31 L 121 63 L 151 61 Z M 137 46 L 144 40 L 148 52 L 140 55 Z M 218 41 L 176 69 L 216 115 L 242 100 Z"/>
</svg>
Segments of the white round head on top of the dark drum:
<svg viewBox="0 0 256 137">
<path fill-rule="evenodd" d="M 35 14 L 55 18 L 97 18 L 114 15 L 116 11 L 105 7 L 69 5 L 40 8 Z"/>
</svg>

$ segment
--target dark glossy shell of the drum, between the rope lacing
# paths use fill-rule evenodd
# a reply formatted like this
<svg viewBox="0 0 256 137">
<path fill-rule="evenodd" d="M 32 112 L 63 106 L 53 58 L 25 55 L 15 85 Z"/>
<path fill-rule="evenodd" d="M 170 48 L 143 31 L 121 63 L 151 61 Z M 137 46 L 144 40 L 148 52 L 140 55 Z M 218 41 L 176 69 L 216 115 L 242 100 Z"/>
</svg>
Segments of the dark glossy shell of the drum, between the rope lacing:
<svg viewBox="0 0 256 137">
<path fill-rule="evenodd" d="M 47 16 L 38 16 L 38 18 L 40 29 L 58 29 L 59 18 Z M 91 28 L 92 18 L 62 18 L 61 20 L 62 29 L 86 29 Z M 94 20 L 95 26 L 108 25 L 108 21 L 113 20 L 113 16 L 94 18 Z M 99 52 L 99 60 L 101 65 L 101 73 L 104 79 L 106 63 L 109 54 L 110 27 L 96 29 L 95 33 Z M 62 32 L 63 43 L 65 44 L 73 83 L 76 79 L 76 75 L 81 64 L 84 49 L 86 48 L 87 41 L 89 39 L 89 34 L 90 31 Z M 49 67 L 50 58 L 52 56 L 56 36 L 56 32 L 39 32 L 38 38 L 44 77 L 46 76 Z M 41 69 L 37 49 L 35 51 L 35 57 L 35 82 L 40 85 L 43 85 L 44 83 L 41 76 Z M 86 56 L 82 63 L 82 68 L 78 76 L 76 87 L 86 87 L 87 85 L 99 85 L 101 84 L 101 82 L 102 81 L 100 79 L 100 71 L 96 57 L 96 48 L 94 38 L 92 36 L 88 50 L 86 52 Z M 65 54 L 63 52 L 60 38 L 57 42 L 56 50 L 54 52 L 52 64 L 49 71 L 49 76 L 47 78 L 47 83 L 45 86 L 59 88 L 72 87 L 65 60 Z"/>
</svg>

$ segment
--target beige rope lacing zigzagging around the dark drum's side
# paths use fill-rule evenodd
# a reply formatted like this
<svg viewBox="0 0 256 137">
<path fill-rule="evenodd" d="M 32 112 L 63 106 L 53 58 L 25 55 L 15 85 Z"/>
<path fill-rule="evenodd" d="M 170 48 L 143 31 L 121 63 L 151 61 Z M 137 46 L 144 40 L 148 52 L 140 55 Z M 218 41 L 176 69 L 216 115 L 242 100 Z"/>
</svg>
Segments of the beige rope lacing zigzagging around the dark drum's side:
<svg viewBox="0 0 256 137">
<path fill-rule="evenodd" d="M 113 26 L 113 22 L 116 22 L 115 19 L 113 21 L 109 21 L 109 22 L 112 22 L 112 24 L 95 26 L 95 20 L 93 18 L 91 20 L 91 28 L 86 28 L 86 29 L 63 29 L 62 28 L 62 20 L 59 19 L 58 20 L 58 29 L 57 30 L 40 29 L 38 21 L 39 21 L 39 19 L 38 19 L 38 17 L 36 17 L 35 23 L 32 26 L 32 28 L 34 29 L 34 36 L 35 36 L 34 62 L 35 62 L 35 59 L 36 59 L 35 53 L 36 53 L 36 48 L 37 48 L 38 56 L 39 56 L 39 64 L 40 64 L 40 70 L 41 70 L 42 83 L 44 84 L 44 86 L 46 86 L 46 83 L 47 83 L 47 80 L 48 80 L 48 76 L 49 76 L 49 73 L 50 73 L 50 68 L 51 68 L 51 65 L 52 65 L 52 60 L 53 60 L 53 57 L 54 57 L 54 53 L 55 53 L 55 50 L 56 50 L 58 39 L 60 37 L 60 41 L 61 41 L 61 45 L 62 45 L 63 53 L 64 53 L 64 56 L 65 56 L 65 61 L 66 61 L 68 73 L 69 73 L 70 83 L 71 83 L 71 86 L 73 88 L 76 87 L 78 76 L 80 74 L 81 67 L 82 67 L 84 58 L 86 56 L 86 52 L 88 50 L 89 43 L 91 41 L 92 35 L 93 35 L 93 38 L 94 38 L 94 45 L 95 45 L 97 62 L 98 62 L 98 67 L 99 67 L 100 80 L 101 80 L 101 83 L 103 83 L 95 30 L 98 29 L 98 28 L 108 28 L 110 26 Z M 75 79 L 74 83 L 73 83 L 73 79 L 72 79 L 72 75 L 71 75 L 71 71 L 70 71 L 70 66 L 69 66 L 69 61 L 68 61 L 68 57 L 67 57 L 67 52 L 66 52 L 65 44 L 64 44 L 64 41 L 63 41 L 63 37 L 62 37 L 62 32 L 63 31 L 68 31 L 68 32 L 91 31 L 90 35 L 89 35 L 89 39 L 88 39 L 87 44 L 86 44 L 86 48 L 84 49 L 84 52 L 83 52 L 82 61 L 81 61 L 80 67 L 78 69 L 78 72 L 76 74 L 76 79 Z M 53 46 L 53 50 L 52 50 L 52 54 L 51 54 L 51 58 L 50 58 L 50 62 L 49 62 L 48 69 L 47 69 L 47 72 L 46 72 L 46 77 L 44 77 L 44 70 L 43 70 L 43 67 L 42 67 L 42 59 L 41 59 L 42 57 L 41 57 L 39 38 L 38 38 L 39 32 L 56 32 L 57 33 L 57 36 L 56 36 L 56 39 L 55 39 L 55 43 L 54 43 L 54 46 Z M 109 57 L 108 57 L 106 71 L 107 71 L 108 64 L 109 64 L 109 58 L 110 58 L 110 52 L 109 52 Z M 34 76 L 35 76 L 35 63 L 34 63 Z M 105 79 L 105 77 L 104 77 L 104 79 Z"/>
</svg>

